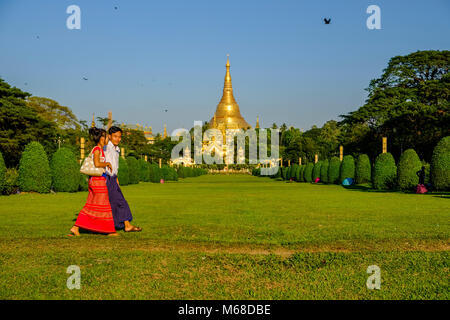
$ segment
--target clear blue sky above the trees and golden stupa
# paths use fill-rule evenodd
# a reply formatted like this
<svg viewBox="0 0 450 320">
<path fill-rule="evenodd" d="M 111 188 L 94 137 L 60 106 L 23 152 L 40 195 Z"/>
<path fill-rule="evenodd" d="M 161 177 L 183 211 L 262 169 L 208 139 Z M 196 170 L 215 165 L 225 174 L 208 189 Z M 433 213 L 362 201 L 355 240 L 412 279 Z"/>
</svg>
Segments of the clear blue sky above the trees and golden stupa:
<svg viewBox="0 0 450 320">
<path fill-rule="evenodd" d="M 81 30 L 66 28 L 71 4 Z M 450 49 L 449 31 L 446 0 L 0 0 L 0 77 L 80 119 L 111 110 L 171 132 L 212 117 L 229 53 L 247 122 L 306 130 L 361 106 L 391 57 Z"/>
</svg>

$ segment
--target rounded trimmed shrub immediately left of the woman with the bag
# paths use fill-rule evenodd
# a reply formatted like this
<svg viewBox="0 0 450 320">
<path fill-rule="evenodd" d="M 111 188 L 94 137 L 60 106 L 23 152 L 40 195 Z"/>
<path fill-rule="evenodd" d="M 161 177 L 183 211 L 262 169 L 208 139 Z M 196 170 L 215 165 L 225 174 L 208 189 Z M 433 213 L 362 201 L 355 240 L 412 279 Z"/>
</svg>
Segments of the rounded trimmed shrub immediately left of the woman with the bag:
<svg viewBox="0 0 450 320">
<path fill-rule="evenodd" d="M 52 186 L 56 192 L 76 192 L 80 181 L 80 165 L 72 150 L 58 149 L 50 160 Z"/>
</svg>

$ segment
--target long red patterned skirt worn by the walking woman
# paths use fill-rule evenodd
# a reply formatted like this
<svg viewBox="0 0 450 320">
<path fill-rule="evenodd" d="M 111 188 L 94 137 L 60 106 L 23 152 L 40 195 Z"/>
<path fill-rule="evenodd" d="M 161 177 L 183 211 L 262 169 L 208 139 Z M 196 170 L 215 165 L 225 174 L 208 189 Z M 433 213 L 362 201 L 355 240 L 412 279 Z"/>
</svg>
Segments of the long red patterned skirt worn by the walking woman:
<svg viewBox="0 0 450 320">
<path fill-rule="evenodd" d="M 89 178 L 88 199 L 78 214 L 75 225 L 95 232 L 116 232 L 104 177 Z"/>
</svg>

